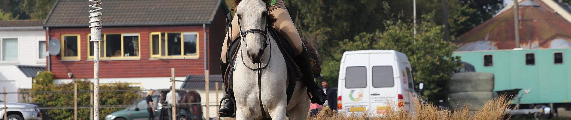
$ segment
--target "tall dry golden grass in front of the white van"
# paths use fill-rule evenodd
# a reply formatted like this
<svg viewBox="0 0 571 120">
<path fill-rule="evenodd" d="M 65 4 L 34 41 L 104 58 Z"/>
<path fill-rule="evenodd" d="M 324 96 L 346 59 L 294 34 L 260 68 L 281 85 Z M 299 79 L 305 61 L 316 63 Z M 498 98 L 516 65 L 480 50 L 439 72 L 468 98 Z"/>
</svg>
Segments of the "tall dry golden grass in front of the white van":
<svg viewBox="0 0 571 120">
<path fill-rule="evenodd" d="M 347 120 L 357 120 L 357 119 L 403 119 L 403 120 L 416 120 L 416 119 L 438 119 L 438 120 L 500 120 L 504 117 L 509 119 L 510 115 L 505 114 L 505 110 L 508 109 L 508 99 L 506 97 L 496 98 L 494 100 L 489 100 L 485 105 L 479 110 L 471 110 L 468 106 L 459 107 L 456 111 L 440 110 L 437 106 L 431 104 L 421 105 L 419 100 L 415 102 L 412 106 L 413 109 L 406 111 L 402 109 L 389 109 L 387 114 L 377 115 L 377 114 L 355 114 L 355 113 L 344 113 L 340 112 L 333 115 L 319 114 L 315 117 L 309 117 L 311 120 L 324 120 L 324 119 L 347 119 Z M 394 105 L 394 104 L 391 104 Z"/>
</svg>

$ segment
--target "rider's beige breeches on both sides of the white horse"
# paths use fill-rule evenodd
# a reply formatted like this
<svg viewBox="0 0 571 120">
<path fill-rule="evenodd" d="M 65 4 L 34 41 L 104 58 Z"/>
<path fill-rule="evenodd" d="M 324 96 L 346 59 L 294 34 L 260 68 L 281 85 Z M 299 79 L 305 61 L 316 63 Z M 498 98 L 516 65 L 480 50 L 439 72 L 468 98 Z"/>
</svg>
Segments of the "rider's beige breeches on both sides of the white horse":
<svg viewBox="0 0 571 120">
<path fill-rule="evenodd" d="M 295 28 L 295 25 L 293 24 L 293 21 L 291 20 L 291 17 L 289 16 L 286 7 L 279 7 L 277 9 L 271 10 L 270 14 L 278 18 L 274 28 L 278 30 L 280 35 L 286 38 L 289 44 L 291 44 L 292 48 L 297 49 L 297 51 L 294 51 L 295 55 L 299 55 L 301 53 L 303 43 L 301 42 L 299 33 L 297 32 L 297 29 Z M 232 40 L 238 38 L 238 36 L 240 35 L 238 27 L 239 27 L 238 17 L 234 15 L 234 18 L 232 19 L 232 26 L 230 27 L 232 31 L 232 36 L 231 36 Z M 226 36 L 228 36 L 228 33 L 226 33 Z M 222 53 L 220 53 L 220 59 L 224 63 L 226 63 L 226 51 L 228 49 L 227 40 L 228 37 L 224 38 L 224 43 L 222 45 Z"/>
</svg>

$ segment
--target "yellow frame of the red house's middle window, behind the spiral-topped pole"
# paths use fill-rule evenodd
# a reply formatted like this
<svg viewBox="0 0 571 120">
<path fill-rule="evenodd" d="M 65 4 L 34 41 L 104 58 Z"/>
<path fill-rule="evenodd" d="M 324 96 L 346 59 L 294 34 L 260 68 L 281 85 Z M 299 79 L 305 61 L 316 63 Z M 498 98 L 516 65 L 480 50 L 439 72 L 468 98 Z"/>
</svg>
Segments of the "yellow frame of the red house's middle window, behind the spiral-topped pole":
<svg viewBox="0 0 571 120">
<path fill-rule="evenodd" d="M 138 46 L 138 49 L 137 49 L 138 55 L 137 56 L 128 56 L 128 57 L 124 56 L 125 51 L 124 51 L 123 34 L 137 34 L 137 37 L 138 37 L 138 43 L 137 44 L 139 44 L 139 45 L 137 45 Z M 121 35 L 120 36 L 120 38 L 121 38 L 121 42 L 120 42 L 121 43 L 121 56 L 110 56 L 110 57 L 108 57 L 104 54 L 105 52 L 107 52 L 106 51 L 107 50 L 106 49 L 107 44 L 105 44 L 107 42 L 107 35 Z M 91 36 L 91 34 L 87 34 L 87 36 L 88 36 L 87 37 L 87 42 L 88 42 L 87 47 L 90 47 L 89 36 Z M 141 45 L 140 44 L 141 44 L 141 36 L 139 33 L 107 33 L 107 34 L 103 34 L 103 40 L 99 42 L 99 57 L 101 60 L 140 59 L 140 53 L 141 53 Z M 103 54 L 102 54 L 102 51 L 104 51 L 104 50 L 105 50 L 105 52 L 103 52 Z M 88 55 L 87 58 L 93 60 L 94 56 L 89 55 L 89 53 L 90 53 L 89 48 L 87 48 L 87 55 Z"/>
</svg>

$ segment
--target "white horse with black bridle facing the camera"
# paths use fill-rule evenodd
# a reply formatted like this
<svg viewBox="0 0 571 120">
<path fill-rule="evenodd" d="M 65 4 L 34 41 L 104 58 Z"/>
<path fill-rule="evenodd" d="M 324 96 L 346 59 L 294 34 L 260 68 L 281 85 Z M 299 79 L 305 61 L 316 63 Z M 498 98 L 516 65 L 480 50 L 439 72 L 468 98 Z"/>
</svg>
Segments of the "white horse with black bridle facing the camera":
<svg viewBox="0 0 571 120">
<path fill-rule="evenodd" d="M 240 25 L 240 48 L 235 61 L 233 78 L 234 96 L 236 98 L 236 119 L 263 119 L 260 107 L 258 71 L 261 70 L 261 101 L 266 118 L 307 119 L 309 97 L 305 93 L 305 85 L 297 81 L 289 104 L 286 88 L 288 83 L 287 66 L 278 44 L 269 35 L 268 11 L 262 0 L 243 0 L 237 8 Z M 271 18 L 270 18 L 271 19 Z M 264 40 L 267 39 L 267 40 Z M 264 44 L 268 43 L 267 47 Z M 259 65 L 260 64 L 260 65 Z"/>
</svg>

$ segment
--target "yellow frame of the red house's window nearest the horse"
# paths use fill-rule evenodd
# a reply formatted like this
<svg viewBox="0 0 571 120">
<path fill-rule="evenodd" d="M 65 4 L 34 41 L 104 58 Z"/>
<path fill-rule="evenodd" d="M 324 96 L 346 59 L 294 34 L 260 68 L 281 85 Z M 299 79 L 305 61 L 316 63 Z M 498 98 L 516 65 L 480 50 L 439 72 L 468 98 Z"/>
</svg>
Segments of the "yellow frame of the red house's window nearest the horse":
<svg viewBox="0 0 571 120">
<path fill-rule="evenodd" d="M 164 49 L 168 49 L 168 34 L 172 34 L 172 33 L 178 33 L 180 34 L 180 56 L 169 56 L 168 55 L 168 51 L 164 51 L 164 56 L 162 55 L 163 53 L 163 45 L 162 42 L 160 42 L 160 40 L 162 40 L 162 35 L 161 33 L 164 33 L 164 39 L 166 39 L 164 41 Z M 196 55 L 184 55 L 184 33 L 194 33 L 196 34 Z M 152 35 L 159 35 L 159 54 L 158 55 L 153 55 L 152 54 Z M 186 31 L 186 32 L 151 32 L 151 34 L 149 35 L 149 48 L 150 48 L 150 56 L 152 58 L 190 58 L 190 59 L 198 59 L 200 57 L 200 34 L 199 32 L 196 31 Z"/>
</svg>

